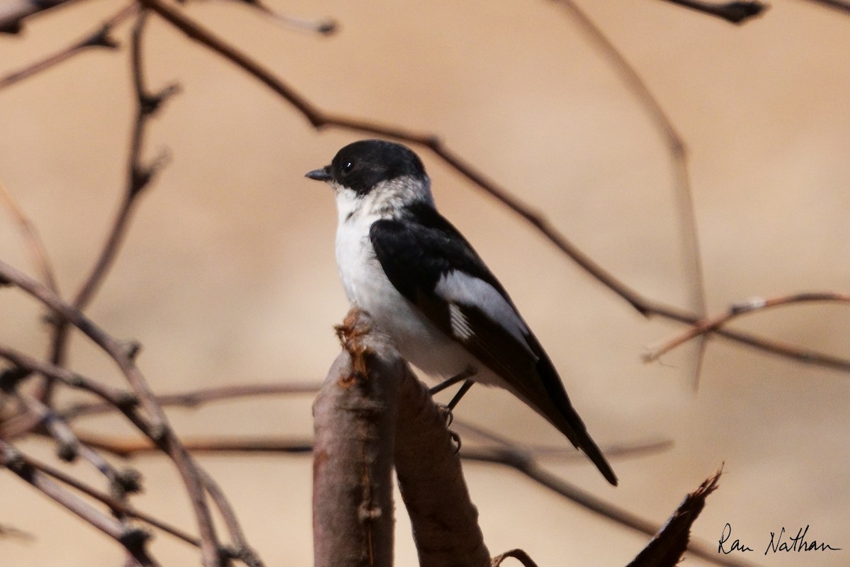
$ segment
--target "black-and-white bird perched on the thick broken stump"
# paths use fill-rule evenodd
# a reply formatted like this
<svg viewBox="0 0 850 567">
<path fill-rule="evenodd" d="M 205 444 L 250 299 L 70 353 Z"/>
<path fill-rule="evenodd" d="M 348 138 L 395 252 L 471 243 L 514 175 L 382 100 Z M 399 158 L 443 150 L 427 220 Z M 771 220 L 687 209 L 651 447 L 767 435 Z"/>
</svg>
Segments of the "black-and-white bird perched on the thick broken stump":
<svg viewBox="0 0 850 567">
<path fill-rule="evenodd" d="M 306 177 L 336 194 L 337 267 L 349 303 L 371 316 L 405 360 L 443 384 L 466 380 L 462 392 L 473 382 L 507 389 L 617 485 L 505 288 L 437 211 L 414 151 L 363 139 Z"/>
</svg>

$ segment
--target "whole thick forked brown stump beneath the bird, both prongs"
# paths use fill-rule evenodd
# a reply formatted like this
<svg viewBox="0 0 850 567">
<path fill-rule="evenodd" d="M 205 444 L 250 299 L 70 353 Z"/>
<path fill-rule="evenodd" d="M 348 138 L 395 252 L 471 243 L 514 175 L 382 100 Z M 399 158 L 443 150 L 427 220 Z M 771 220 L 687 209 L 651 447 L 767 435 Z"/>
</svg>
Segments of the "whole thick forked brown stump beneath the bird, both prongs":
<svg viewBox="0 0 850 567">
<path fill-rule="evenodd" d="M 393 344 L 352 309 L 313 405 L 315 564 L 390 565 L 392 467 L 421 565 L 484 567 L 490 554 L 445 416 Z"/>
</svg>

